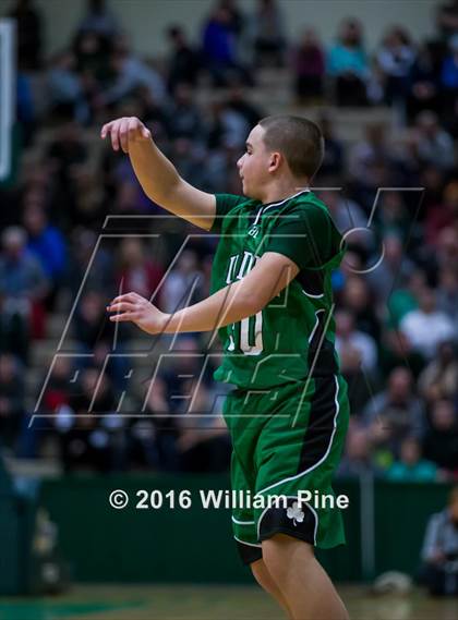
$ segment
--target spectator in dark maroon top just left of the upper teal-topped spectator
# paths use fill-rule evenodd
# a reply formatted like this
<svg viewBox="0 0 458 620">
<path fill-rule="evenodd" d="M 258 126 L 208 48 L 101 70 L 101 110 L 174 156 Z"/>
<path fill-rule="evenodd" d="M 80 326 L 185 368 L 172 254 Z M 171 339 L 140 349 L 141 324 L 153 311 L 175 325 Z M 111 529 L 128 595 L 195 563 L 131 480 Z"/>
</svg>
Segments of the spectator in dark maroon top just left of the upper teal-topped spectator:
<svg viewBox="0 0 458 620">
<path fill-rule="evenodd" d="M 311 99 L 323 97 L 325 53 L 313 28 L 303 32 L 292 58 L 298 102 L 305 104 Z"/>
</svg>

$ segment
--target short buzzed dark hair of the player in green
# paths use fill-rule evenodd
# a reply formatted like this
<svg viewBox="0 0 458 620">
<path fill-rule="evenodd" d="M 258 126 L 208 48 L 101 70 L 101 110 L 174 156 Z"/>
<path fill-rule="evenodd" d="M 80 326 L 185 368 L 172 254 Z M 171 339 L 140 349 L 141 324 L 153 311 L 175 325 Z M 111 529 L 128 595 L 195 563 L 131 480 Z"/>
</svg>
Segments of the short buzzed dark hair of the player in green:
<svg viewBox="0 0 458 620">
<path fill-rule="evenodd" d="M 264 144 L 269 150 L 279 150 L 297 178 L 312 179 L 324 158 L 324 137 L 318 125 L 291 114 L 266 117 L 258 122 Z"/>
</svg>

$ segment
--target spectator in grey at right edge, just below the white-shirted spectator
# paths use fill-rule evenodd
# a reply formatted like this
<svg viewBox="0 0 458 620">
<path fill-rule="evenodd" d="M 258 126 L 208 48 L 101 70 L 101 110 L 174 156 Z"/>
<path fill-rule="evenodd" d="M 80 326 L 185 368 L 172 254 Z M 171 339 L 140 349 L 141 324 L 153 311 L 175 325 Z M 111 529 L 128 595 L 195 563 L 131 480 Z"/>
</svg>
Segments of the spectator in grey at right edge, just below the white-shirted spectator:
<svg viewBox="0 0 458 620">
<path fill-rule="evenodd" d="M 451 342 L 439 343 L 435 357 L 421 373 L 418 387 L 429 402 L 454 399 L 458 394 L 458 358 Z"/>
</svg>

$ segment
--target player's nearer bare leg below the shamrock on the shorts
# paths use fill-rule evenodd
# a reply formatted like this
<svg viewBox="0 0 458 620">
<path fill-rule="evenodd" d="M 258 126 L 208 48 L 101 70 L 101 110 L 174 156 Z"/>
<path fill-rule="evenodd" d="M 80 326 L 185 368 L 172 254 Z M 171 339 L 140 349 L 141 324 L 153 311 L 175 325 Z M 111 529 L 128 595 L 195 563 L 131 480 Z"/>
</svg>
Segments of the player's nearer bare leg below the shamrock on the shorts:
<svg viewBox="0 0 458 620">
<path fill-rule="evenodd" d="M 349 620 L 312 545 L 276 534 L 263 542 L 263 561 L 293 620 Z"/>
</svg>

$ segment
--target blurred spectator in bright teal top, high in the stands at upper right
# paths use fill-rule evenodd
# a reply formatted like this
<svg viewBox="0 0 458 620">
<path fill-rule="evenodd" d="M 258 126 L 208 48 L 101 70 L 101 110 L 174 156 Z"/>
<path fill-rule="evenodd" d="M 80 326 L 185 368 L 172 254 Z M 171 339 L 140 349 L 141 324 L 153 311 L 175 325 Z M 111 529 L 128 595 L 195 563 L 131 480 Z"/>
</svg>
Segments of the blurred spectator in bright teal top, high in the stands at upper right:
<svg viewBox="0 0 458 620">
<path fill-rule="evenodd" d="M 355 20 L 345 21 L 338 41 L 332 47 L 327 71 L 334 80 L 337 106 L 365 106 L 367 59 L 362 42 L 362 29 Z"/>
</svg>

